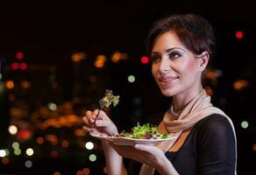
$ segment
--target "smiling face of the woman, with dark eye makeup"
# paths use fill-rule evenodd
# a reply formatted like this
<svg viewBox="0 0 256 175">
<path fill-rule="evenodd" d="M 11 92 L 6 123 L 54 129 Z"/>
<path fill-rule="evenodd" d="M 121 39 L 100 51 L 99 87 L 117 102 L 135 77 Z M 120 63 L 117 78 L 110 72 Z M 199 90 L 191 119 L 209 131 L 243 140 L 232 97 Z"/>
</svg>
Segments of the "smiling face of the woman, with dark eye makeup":
<svg viewBox="0 0 256 175">
<path fill-rule="evenodd" d="M 155 39 L 151 57 L 153 77 L 163 95 L 178 95 L 201 85 L 202 60 L 181 44 L 174 31 Z"/>
</svg>

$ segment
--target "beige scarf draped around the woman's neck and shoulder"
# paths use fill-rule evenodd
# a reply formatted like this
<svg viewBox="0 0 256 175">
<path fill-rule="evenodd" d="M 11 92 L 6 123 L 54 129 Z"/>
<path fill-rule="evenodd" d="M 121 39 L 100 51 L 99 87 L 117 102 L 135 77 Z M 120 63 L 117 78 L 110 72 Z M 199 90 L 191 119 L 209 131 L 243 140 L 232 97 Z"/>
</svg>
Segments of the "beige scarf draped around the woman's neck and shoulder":
<svg viewBox="0 0 256 175">
<path fill-rule="evenodd" d="M 160 148 L 164 152 L 168 151 L 173 146 L 175 141 L 181 136 L 181 132 L 183 130 L 194 126 L 198 121 L 202 120 L 206 116 L 210 116 L 212 114 L 219 114 L 226 117 L 231 123 L 236 142 L 237 158 L 237 139 L 233 123 L 231 122 L 231 119 L 226 116 L 221 109 L 217 109 L 212 106 L 212 104 L 210 103 L 210 96 L 205 93 L 204 89 L 188 103 L 188 105 L 182 110 L 180 116 L 174 114 L 173 108 L 173 105 L 171 105 L 170 109 L 167 110 L 162 123 L 164 124 L 167 132 L 169 133 L 169 137 L 175 137 L 175 139 L 156 145 L 158 148 Z M 151 175 L 154 173 L 154 170 L 155 169 L 152 166 L 144 164 L 141 166 L 139 175 Z"/>
</svg>

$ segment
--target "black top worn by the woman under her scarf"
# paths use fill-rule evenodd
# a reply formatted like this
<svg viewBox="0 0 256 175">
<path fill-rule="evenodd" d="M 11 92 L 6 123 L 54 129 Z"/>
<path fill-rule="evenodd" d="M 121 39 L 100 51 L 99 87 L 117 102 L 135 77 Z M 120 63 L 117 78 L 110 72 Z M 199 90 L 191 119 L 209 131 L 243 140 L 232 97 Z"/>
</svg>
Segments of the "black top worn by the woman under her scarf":
<svg viewBox="0 0 256 175">
<path fill-rule="evenodd" d="M 231 124 L 217 114 L 203 118 L 190 130 L 179 151 L 167 151 L 166 157 L 181 175 L 234 174 L 236 150 Z"/>
</svg>

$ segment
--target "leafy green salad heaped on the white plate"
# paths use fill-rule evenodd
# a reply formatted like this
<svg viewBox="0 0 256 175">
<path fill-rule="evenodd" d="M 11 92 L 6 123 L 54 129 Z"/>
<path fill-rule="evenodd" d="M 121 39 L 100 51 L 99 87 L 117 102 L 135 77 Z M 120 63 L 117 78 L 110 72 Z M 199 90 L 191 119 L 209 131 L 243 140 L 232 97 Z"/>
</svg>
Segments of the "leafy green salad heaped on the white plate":
<svg viewBox="0 0 256 175">
<path fill-rule="evenodd" d="M 117 137 L 137 138 L 137 139 L 164 139 L 168 137 L 167 133 L 161 134 L 157 130 L 157 126 L 150 125 L 149 123 L 132 128 L 131 132 L 122 131 Z"/>
</svg>

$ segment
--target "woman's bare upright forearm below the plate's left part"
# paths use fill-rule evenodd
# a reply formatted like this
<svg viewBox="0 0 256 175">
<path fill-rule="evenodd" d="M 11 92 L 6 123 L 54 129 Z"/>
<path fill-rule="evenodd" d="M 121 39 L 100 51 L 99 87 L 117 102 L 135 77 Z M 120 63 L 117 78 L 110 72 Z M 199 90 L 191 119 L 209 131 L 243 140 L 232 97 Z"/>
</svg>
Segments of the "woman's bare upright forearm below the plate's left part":
<svg viewBox="0 0 256 175">
<path fill-rule="evenodd" d="M 126 175 L 126 169 L 124 168 L 123 158 L 118 155 L 108 141 L 102 141 L 103 151 L 107 164 L 108 174 L 110 175 Z"/>
</svg>

